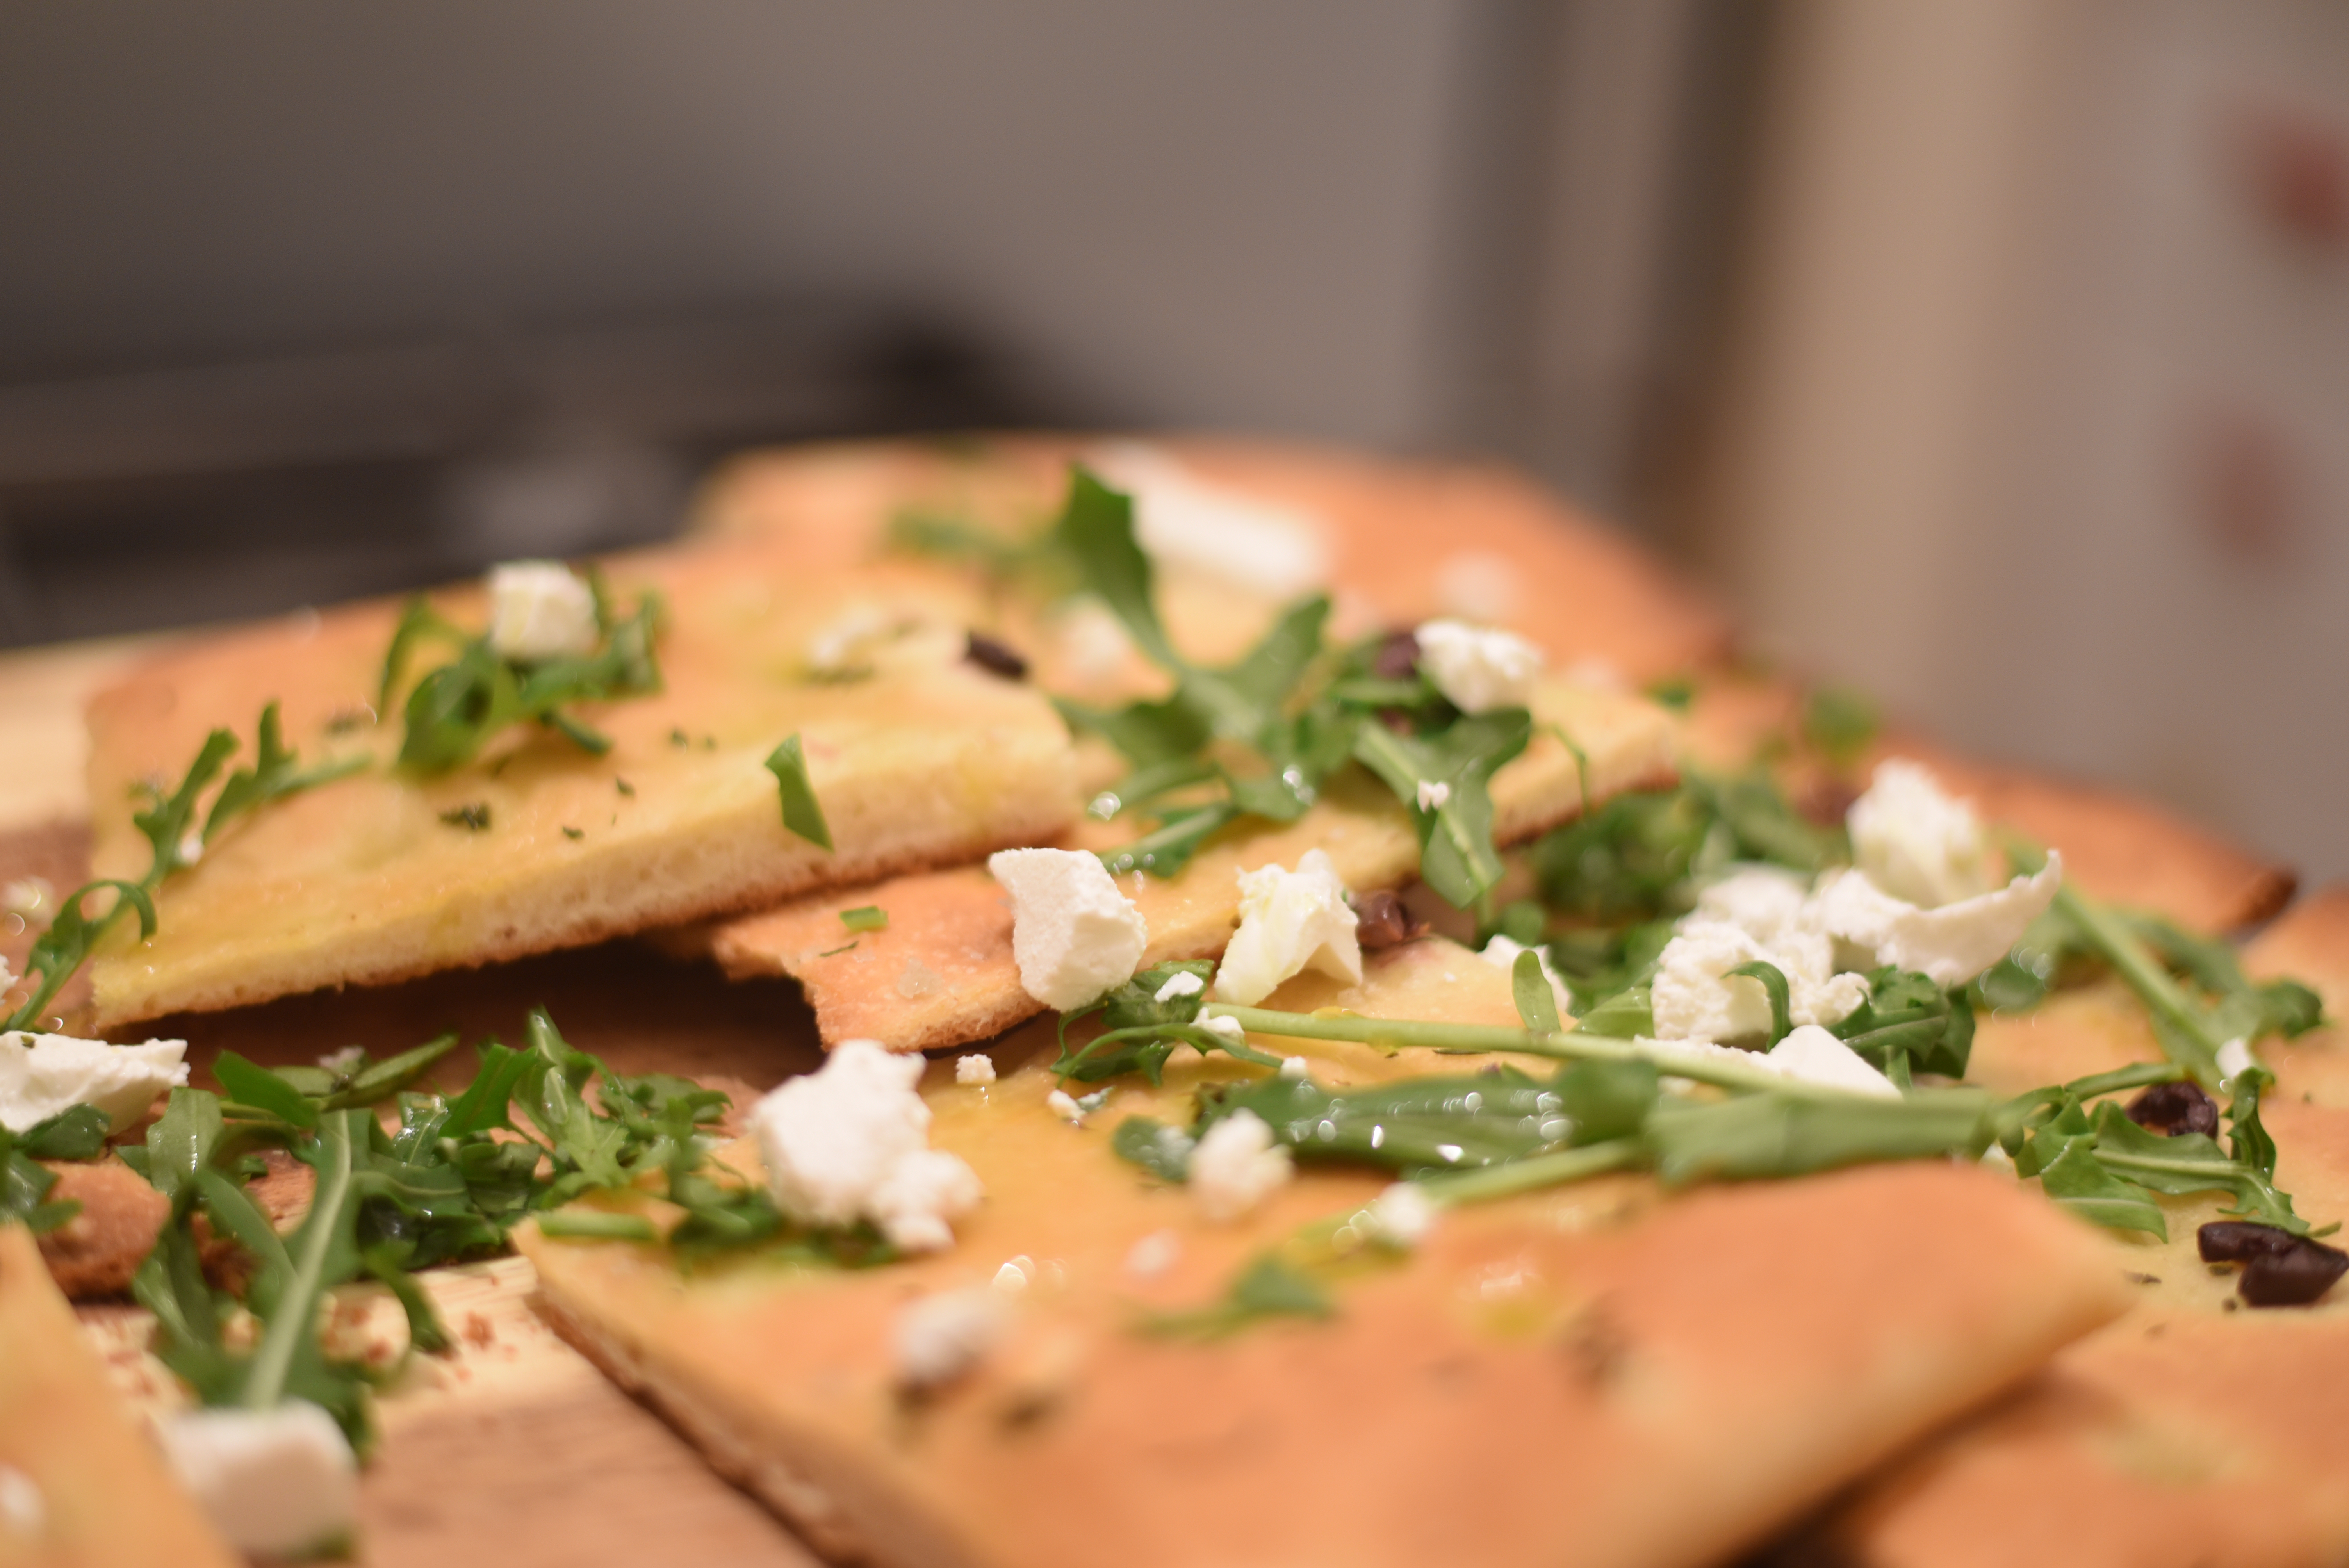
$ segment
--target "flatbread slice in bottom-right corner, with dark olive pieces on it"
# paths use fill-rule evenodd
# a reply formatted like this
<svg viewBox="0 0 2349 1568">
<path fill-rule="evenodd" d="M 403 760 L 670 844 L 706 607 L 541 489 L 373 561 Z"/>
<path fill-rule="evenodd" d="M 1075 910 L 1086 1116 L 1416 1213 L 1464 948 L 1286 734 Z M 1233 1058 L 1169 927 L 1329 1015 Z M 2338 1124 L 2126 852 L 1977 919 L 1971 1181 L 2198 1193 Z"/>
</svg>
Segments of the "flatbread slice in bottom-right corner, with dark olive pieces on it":
<svg viewBox="0 0 2349 1568">
<path fill-rule="evenodd" d="M 2253 974 L 2349 1007 L 2349 890 L 2288 911 L 2246 953 Z M 2037 1019 L 1985 1021 L 1994 1070 L 2051 1077 L 2156 1059 L 2123 995 L 2095 991 Z M 2349 1216 L 2349 1030 L 2262 1047 L 2276 1087 L 2262 1120 L 2276 1183 L 2311 1221 Z M 1872 1476 L 1816 1535 L 1832 1561 L 2300 1566 L 2349 1559 L 2349 1291 L 2311 1307 L 2243 1310 L 2194 1230 L 2215 1197 L 2168 1197 L 2170 1239 L 2131 1239 L 2140 1305 L 2065 1350 L 2011 1401 Z"/>
</svg>

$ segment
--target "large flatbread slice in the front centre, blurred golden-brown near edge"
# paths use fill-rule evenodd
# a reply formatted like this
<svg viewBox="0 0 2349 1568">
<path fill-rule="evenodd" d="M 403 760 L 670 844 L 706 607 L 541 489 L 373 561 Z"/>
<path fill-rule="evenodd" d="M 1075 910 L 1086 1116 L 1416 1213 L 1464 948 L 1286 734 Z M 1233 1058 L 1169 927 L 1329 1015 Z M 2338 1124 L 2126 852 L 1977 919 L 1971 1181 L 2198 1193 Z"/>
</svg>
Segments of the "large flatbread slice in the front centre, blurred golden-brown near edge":
<svg viewBox="0 0 2349 1568">
<path fill-rule="evenodd" d="M 1501 1021 L 1508 976 L 1440 939 L 1283 1007 Z M 1445 1216 L 1337 1317 L 1196 1343 L 1137 1331 L 1381 1178 L 1308 1167 L 1243 1225 L 1118 1164 L 1128 1113 L 1182 1117 L 1221 1059 L 1120 1082 L 1071 1129 L 1034 1026 L 991 1087 L 930 1075 L 933 1143 L 987 1183 L 949 1253 L 876 1270 L 648 1246 L 521 1246 L 557 1326 L 820 1549 L 883 1568 L 1722 1561 L 2121 1310 L 2107 1249 L 1945 1162 L 1663 1197 L 1637 1176 Z M 1285 1049 L 1285 1042 L 1266 1042 Z M 1459 1070 L 1297 1042 L 1322 1082 Z M 1449 1066 L 1447 1066 L 1449 1063 Z M 754 1160 L 733 1150 L 728 1160 Z M 749 1169 L 756 1169 L 749 1164 Z M 1163 1272 L 1128 1265 L 1160 1235 Z M 914 1298 L 1031 1272 L 963 1383 L 893 1387 Z"/>
</svg>

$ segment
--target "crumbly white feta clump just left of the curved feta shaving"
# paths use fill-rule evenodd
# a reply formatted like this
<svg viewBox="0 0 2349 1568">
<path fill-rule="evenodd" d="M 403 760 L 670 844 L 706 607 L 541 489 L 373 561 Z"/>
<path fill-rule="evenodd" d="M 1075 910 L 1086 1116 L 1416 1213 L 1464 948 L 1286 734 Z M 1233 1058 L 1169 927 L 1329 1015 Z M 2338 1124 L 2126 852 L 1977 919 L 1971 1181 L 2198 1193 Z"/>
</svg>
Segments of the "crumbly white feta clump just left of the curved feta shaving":
<svg viewBox="0 0 2349 1568">
<path fill-rule="evenodd" d="M 1738 965 L 1771 962 L 1785 974 L 1795 1023 L 1842 1023 L 1867 1000 L 1867 981 L 1835 972 L 1835 941 L 1802 925 L 1762 941 L 1741 925 L 1691 915 L 1656 960 L 1649 1005 L 1661 1040 L 1750 1040 L 1769 1035 L 1769 991 Z"/>
</svg>

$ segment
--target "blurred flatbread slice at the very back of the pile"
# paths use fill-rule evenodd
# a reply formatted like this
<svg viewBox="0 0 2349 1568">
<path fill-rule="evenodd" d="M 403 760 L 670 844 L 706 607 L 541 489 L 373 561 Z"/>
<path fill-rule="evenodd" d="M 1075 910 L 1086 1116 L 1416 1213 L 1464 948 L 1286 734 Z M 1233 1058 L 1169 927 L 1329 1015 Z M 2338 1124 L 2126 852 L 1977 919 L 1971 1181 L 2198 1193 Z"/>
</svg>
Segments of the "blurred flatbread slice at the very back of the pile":
<svg viewBox="0 0 2349 1568">
<path fill-rule="evenodd" d="M 1708 599 L 1503 467 L 1238 437 L 1149 444 L 1207 484 L 1315 519 L 1330 587 L 1358 629 L 1470 615 L 1534 638 L 1560 669 L 1595 662 L 1633 683 L 1712 664 L 1729 648 L 1729 622 Z M 747 453 L 702 488 L 693 528 L 792 540 L 841 563 L 869 559 L 907 509 L 1034 528 L 1059 505 L 1069 460 L 1102 446 L 1097 437 L 1019 434 Z M 1179 566 L 1163 570 L 1163 584 L 1177 641 L 1233 596 L 1229 580 L 1200 582 Z"/>
</svg>

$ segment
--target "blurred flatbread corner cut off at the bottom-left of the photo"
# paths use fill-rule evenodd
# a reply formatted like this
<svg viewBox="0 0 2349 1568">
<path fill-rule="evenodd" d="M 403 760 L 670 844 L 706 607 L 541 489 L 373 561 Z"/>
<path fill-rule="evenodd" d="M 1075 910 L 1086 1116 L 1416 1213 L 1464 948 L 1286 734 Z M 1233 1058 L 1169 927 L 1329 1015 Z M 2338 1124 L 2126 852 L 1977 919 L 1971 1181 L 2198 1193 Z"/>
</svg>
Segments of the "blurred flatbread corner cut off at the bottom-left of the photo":
<svg viewBox="0 0 2349 1568">
<path fill-rule="evenodd" d="M 0 1563 L 242 1561 L 132 1425 L 33 1237 L 0 1225 Z"/>
</svg>

